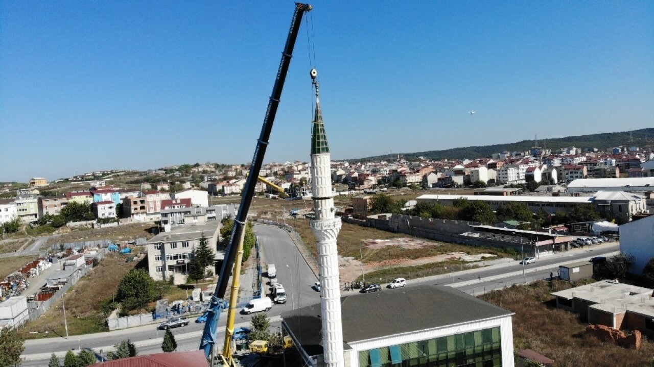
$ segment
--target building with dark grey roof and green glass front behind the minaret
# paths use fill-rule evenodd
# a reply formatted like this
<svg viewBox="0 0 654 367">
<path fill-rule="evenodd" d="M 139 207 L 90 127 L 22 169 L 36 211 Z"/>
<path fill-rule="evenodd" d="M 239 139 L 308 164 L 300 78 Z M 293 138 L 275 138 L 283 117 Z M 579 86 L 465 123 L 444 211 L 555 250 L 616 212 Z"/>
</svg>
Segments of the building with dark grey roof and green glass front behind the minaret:
<svg viewBox="0 0 654 367">
<path fill-rule="evenodd" d="M 511 311 L 443 285 L 341 297 L 345 366 L 513 366 Z M 324 366 L 320 304 L 282 313 L 297 365 Z M 383 320 L 384 322 L 380 322 Z"/>
</svg>

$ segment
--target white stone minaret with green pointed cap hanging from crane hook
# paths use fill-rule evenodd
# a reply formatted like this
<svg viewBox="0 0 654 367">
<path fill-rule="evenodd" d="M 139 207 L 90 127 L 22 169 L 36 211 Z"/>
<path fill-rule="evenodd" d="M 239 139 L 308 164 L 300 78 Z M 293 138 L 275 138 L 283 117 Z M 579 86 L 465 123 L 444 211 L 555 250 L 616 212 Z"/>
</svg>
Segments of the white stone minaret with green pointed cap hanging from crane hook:
<svg viewBox="0 0 654 367">
<path fill-rule="evenodd" d="M 341 229 L 341 218 L 334 217 L 332 172 L 327 135 L 322 123 L 316 69 L 311 79 L 316 90 L 316 113 L 311 133 L 311 193 L 316 218 L 311 231 L 318 242 L 318 268 L 320 270 L 320 311 L 322 313 L 322 350 L 324 365 L 343 366 L 343 325 L 341 321 L 341 289 L 338 278 L 336 236 Z"/>
</svg>

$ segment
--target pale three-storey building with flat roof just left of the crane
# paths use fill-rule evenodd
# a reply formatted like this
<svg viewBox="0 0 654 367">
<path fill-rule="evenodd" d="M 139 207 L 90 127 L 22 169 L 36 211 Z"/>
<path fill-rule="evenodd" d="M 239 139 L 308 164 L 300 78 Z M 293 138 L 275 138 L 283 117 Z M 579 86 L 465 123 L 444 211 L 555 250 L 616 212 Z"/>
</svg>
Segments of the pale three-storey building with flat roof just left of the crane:
<svg viewBox="0 0 654 367">
<path fill-rule="evenodd" d="M 171 231 L 157 234 L 148 241 L 148 271 L 155 280 L 173 279 L 175 284 L 186 283 L 189 264 L 193 251 L 201 240 L 206 240 L 214 259 L 224 259 L 224 251 L 217 251 L 218 221 L 201 225 L 180 225 L 171 227 Z M 217 265 L 216 265 L 217 266 Z M 209 268 L 207 268 L 209 269 Z M 216 271 L 212 266 L 211 270 Z"/>
</svg>

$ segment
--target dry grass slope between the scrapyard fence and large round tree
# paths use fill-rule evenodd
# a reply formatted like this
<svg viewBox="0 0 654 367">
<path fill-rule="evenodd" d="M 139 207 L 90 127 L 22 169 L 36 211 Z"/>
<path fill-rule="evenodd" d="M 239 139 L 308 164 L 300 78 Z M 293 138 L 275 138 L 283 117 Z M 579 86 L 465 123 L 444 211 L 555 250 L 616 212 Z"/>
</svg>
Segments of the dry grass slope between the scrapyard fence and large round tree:
<svg viewBox="0 0 654 367">
<path fill-rule="evenodd" d="M 105 325 L 100 305 L 103 300 L 116 294 L 120 279 L 136 266 L 136 261 L 126 262 L 119 253 L 107 253 L 84 278 L 80 279 L 65 295 L 68 332 L 71 335 L 109 331 Z M 46 338 L 65 335 L 61 300 L 39 319 L 27 323 L 21 329 L 26 338 Z M 48 334 L 45 332 L 48 331 Z M 29 334 L 39 332 L 39 334 Z"/>
</svg>

